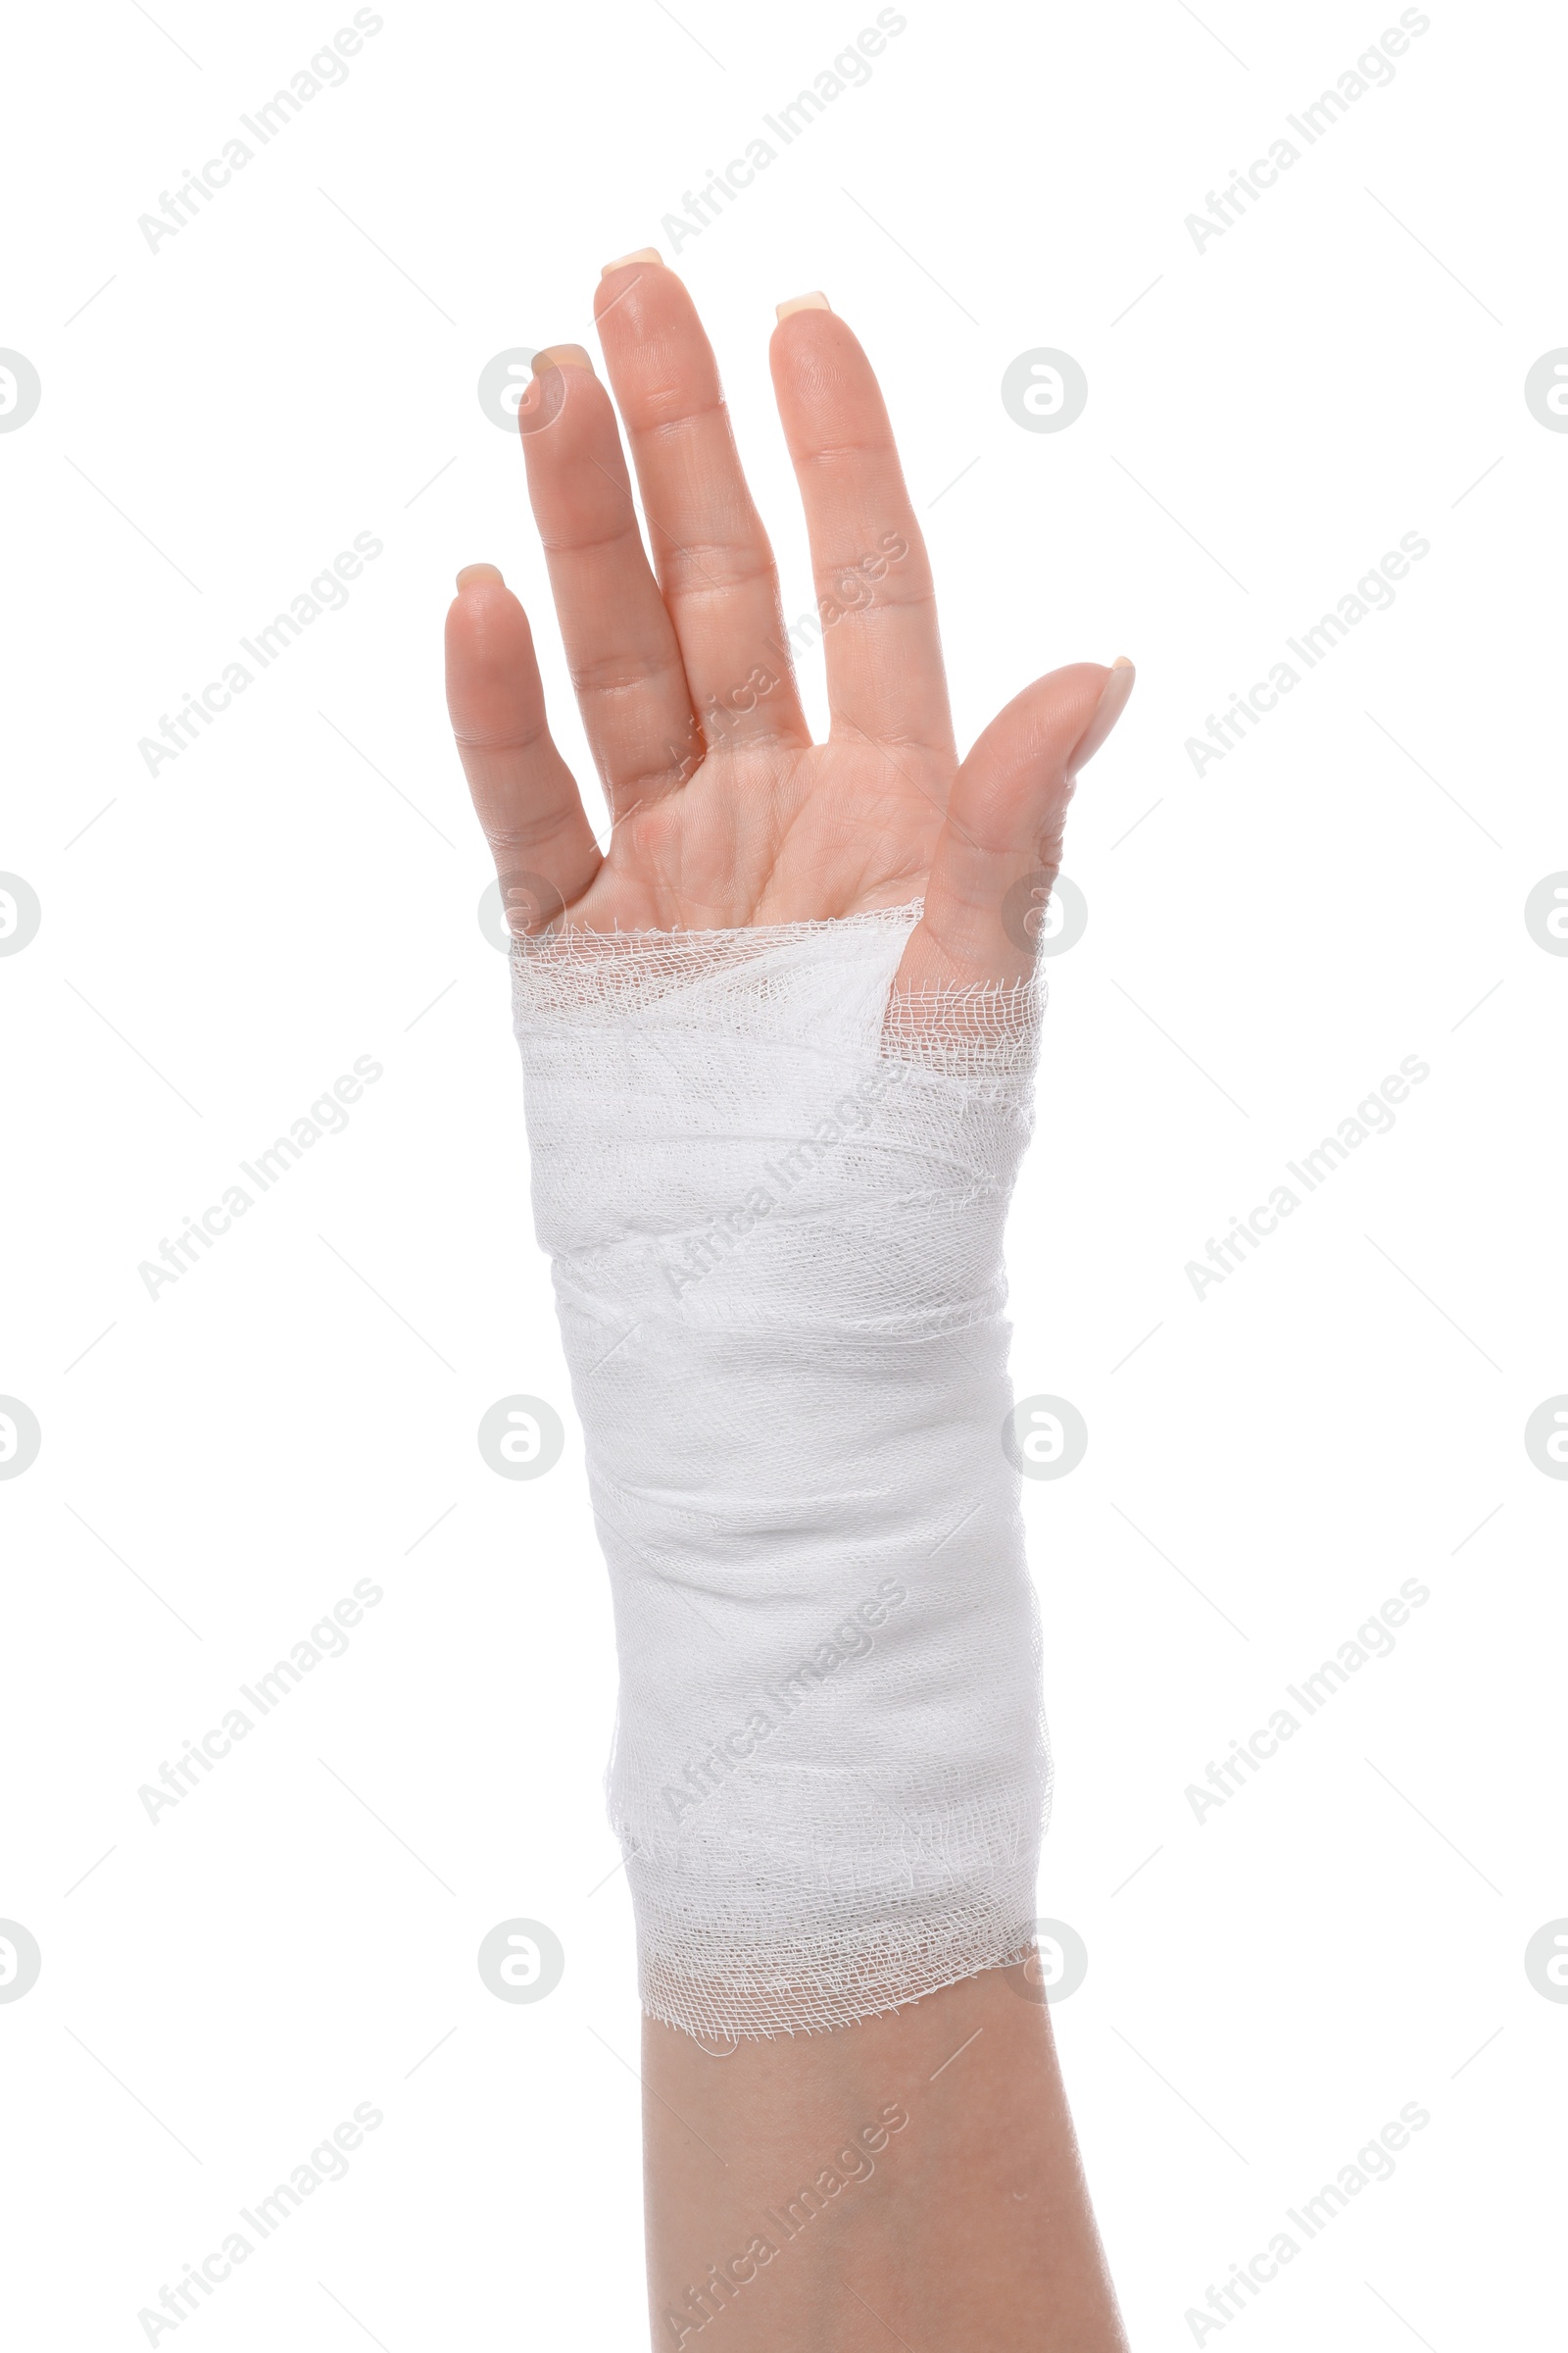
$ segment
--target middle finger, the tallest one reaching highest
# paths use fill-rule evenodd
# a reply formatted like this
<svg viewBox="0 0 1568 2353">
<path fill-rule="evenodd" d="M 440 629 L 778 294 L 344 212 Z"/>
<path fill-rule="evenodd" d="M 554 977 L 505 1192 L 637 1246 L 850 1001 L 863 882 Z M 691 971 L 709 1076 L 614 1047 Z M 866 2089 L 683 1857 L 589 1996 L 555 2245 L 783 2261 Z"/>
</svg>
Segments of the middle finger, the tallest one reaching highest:
<svg viewBox="0 0 1568 2353">
<path fill-rule="evenodd" d="M 719 369 L 686 287 L 654 261 L 611 264 L 595 318 L 632 445 L 658 586 L 708 744 L 809 744 L 773 551 L 741 473 Z"/>
</svg>

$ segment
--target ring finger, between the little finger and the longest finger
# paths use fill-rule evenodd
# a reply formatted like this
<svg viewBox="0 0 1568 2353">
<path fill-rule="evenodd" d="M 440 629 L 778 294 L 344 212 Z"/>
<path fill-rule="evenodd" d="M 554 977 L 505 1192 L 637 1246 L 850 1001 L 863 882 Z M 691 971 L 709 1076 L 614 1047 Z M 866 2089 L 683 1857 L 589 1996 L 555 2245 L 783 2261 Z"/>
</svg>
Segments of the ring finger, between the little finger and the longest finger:
<svg viewBox="0 0 1568 2353">
<path fill-rule="evenodd" d="M 571 685 L 621 819 L 675 791 L 703 755 L 679 645 L 637 529 L 616 412 L 578 344 L 536 355 L 517 424 Z"/>
</svg>

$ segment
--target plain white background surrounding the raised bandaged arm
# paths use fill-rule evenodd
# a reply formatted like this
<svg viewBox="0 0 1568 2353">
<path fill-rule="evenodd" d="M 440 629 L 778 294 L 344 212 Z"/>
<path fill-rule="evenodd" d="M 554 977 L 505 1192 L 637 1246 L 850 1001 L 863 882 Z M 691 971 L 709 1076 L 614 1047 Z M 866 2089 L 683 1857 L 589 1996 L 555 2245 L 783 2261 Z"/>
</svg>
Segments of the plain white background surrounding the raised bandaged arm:
<svg viewBox="0 0 1568 2353">
<path fill-rule="evenodd" d="M 42 1948 L 0 2005 L 9 2337 L 143 2344 L 162 2282 L 371 2101 L 348 2179 L 160 2344 L 630 2346 L 609 1609 L 440 624 L 454 569 L 501 562 L 581 755 L 480 369 L 592 344 L 599 264 L 670 252 L 661 216 L 875 9 L 388 0 L 150 252 L 139 214 L 350 21 L 155 14 L 33 12 L 2 162 L 0 344 L 42 379 L 0 435 L 0 868 L 42 904 L 0 960 L 0 1391 L 42 1428 L 0 1482 L 0 1915 Z M 1568 1482 L 1523 1449 L 1568 1391 L 1568 958 L 1523 922 L 1568 868 L 1568 435 L 1523 400 L 1568 344 L 1561 19 L 1436 0 L 1241 221 L 1185 226 L 1396 16 L 910 5 L 679 254 L 790 616 L 766 339 L 823 285 L 886 386 L 961 741 L 1058 661 L 1140 668 L 1072 816 L 1088 932 L 1011 1231 L 1018 1391 L 1091 1433 L 1025 1492 L 1041 1913 L 1091 1955 L 1056 2024 L 1140 2353 L 1199 2341 L 1208 2282 L 1408 2101 L 1396 2174 L 1201 2341 L 1460 2353 L 1561 2311 L 1568 2007 L 1523 1969 L 1568 1913 Z M 1088 376 L 1063 433 L 1001 407 L 1039 346 Z M 150 776 L 139 739 L 357 532 L 383 555 L 346 609 Z M 1208 713 L 1406 532 L 1392 609 L 1194 774 Z M 150 1299 L 139 1264 L 355 1056 L 383 1078 L 348 1129 Z M 1394 1129 L 1194 1297 L 1185 1264 L 1403 1056 L 1429 1078 Z M 538 1482 L 475 1445 L 520 1391 L 567 1417 Z M 139 1786 L 355 1579 L 383 1600 L 348 1652 L 153 1824 Z M 1197 1821 L 1187 1786 L 1403 1579 L 1429 1600 L 1392 1657 Z M 567 1951 L 536 2005 L 475 1969 L 512 1915 Z"/>
</svg>

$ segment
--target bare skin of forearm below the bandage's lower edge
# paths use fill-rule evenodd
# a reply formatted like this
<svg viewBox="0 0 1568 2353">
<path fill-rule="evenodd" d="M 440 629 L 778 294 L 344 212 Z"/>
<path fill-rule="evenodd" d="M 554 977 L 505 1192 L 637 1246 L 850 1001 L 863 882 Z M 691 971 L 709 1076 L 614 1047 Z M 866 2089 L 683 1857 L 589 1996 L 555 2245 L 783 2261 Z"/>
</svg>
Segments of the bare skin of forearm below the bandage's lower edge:
<svg viewBox="0 0 1568 2353">
<path fill-rule="evenodd" d="M 1037 1995 L 987 1969 L 717 2054 L 649 2019 L 654 2346 L 1126 2353 Z"/>
</svg>

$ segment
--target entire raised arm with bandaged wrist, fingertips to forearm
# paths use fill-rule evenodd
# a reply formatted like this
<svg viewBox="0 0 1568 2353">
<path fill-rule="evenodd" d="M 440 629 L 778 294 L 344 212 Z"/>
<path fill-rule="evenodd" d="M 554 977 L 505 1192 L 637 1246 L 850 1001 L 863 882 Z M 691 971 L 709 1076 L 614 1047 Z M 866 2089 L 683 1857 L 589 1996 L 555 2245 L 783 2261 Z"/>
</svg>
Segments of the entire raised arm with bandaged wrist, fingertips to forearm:
<svg viewBox="0 0 1568 2353">
<path fill-rule="evenodd" d="M 691 2344 L 724 2308 L 731 2344 L 827 2344 L 875 2332 L 872 2308 L 922 2346 L 1114 2353 L 1048 2014 L 1016 1965 L 1044 1751 L 997 1428 L 1034 1019 L 1004 904 L 1056 873 L 1072 779 L 1131 668 L 1037 680 L 959 762 L 882 395 L 818 301 L 773 336 L 825 619 L 832 734 L 811 744 L 691 301 L 632 256 L 597 313 L 651 565 L 585 353 L 541 355 L 520 424 L 609 849 L 491 567 L 458 581 L 449 699 L 531 934 L 515 972 L 536 1217 L 616 1591 L 654 2341 Z M 649 955 L 637 932 L 665 939 Z M 837 1115 L 816 1120 L 816 1089 Z M 783 1202 L 778 1179 L 762 1207 L 762 1146 L 776 1167 L 778 1141 L 830 1132 L 851 1144 L 820 1200 Z M 762 1445 L 776 1419 L 790 1475 Z M 943 1492 L 969 1532 L 931 1567 L 905 1537 Z M 858 1680 L 689 1819 L 693 1737 L 726 1737 L 769 1659 L 788 1666 L 802 1628 L 905 1560 L 912 1605 Z M 990 1659 L 983 1609 L 1004 1633 Z M 945 1746 L 964 1678 L 985 1704 Z M 806 2200 L 792 2231 L 813 2179 L 832 2205 Z M 729 2285 L 705 2294 L 715 2268 Z"/>
</svg>

